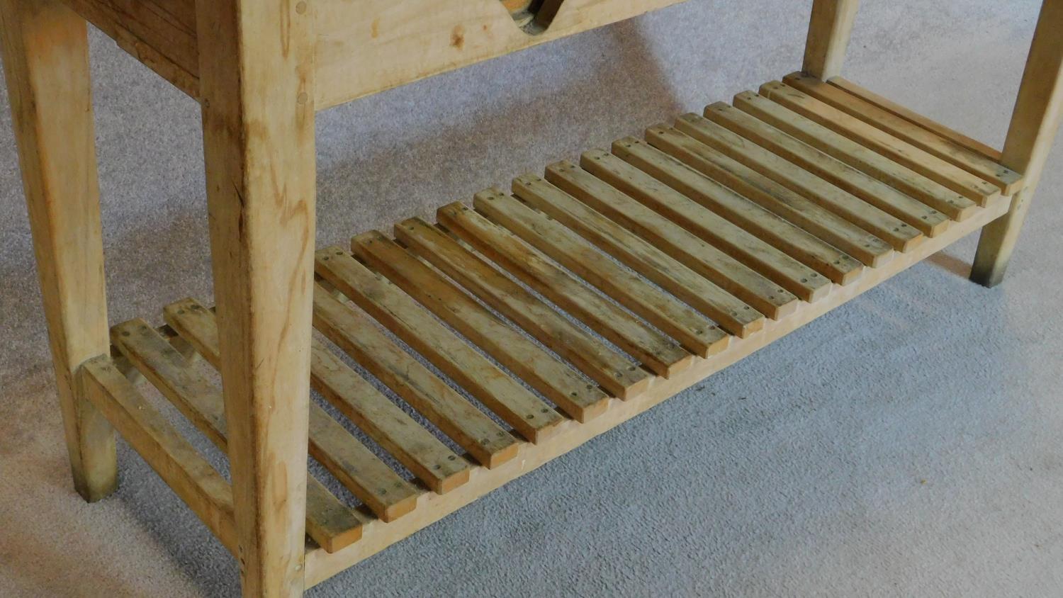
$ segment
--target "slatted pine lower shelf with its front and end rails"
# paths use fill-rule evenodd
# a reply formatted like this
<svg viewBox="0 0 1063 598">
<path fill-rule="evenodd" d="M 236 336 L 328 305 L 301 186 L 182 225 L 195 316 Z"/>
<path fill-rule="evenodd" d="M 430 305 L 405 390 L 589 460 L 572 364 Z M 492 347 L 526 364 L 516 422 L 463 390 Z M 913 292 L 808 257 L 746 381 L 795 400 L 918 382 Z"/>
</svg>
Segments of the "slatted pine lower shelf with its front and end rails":
<svg viewBox="0 0 1063 598">
<path fill-rule="evenodd" d="M 349 422 L 311 404 L 309 452 L 361 505 L 308 477 L 307 582 L 998 218 L 1022 185 L 998 159 L 849 82 L 793 74 L 651 126 L 644 140 L 519 176 L 512 194 L 443 206 L 437 223 L 409 219 L 393 237 L 369 232 L 318 252 L 314 326 L 331 343 L 314 343 L 310 385 Z M 163 329 L 113 328 L 117 365 L 224 450 L 220 388 L 176 348 L 217 368 L 214 313 L 184 300 L 164 315 Z M 116 376 L 123 368 L 86 368 L 94 398 L 232 547 L 231 490 Z"/>
</svg>

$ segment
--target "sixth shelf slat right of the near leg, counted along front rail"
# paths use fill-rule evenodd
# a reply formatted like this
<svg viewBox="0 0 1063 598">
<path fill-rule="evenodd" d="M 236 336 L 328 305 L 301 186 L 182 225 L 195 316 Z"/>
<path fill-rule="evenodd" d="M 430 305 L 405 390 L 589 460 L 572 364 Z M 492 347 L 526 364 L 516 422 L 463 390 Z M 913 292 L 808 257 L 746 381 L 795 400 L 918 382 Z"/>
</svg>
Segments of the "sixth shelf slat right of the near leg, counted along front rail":
<svg viewBox="0 0 1063 598">
<path fill-rule="evenodd" d="M 575 370 L 459 290 L 439 273 L 378 232 L 351 240 L 359 259 L 383 273 L 437 318 L 517 374 L 578 422 L 605 412 L 606 395 Z"/>
</svg>

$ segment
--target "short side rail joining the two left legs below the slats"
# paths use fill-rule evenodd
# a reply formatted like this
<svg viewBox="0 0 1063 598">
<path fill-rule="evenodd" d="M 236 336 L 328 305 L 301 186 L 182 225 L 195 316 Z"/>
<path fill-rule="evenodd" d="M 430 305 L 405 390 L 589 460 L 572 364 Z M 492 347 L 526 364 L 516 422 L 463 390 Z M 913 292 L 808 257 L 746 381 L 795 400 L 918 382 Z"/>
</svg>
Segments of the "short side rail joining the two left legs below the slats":
<svg viewBox="0 0 1063 598">
<path fill-rule="evenodd" d="M 79 370 L 87 397 L 122 438 L 233 554 L 237 553 L 233 489 L 115 368 L 100 356 Z"/>
</svg>

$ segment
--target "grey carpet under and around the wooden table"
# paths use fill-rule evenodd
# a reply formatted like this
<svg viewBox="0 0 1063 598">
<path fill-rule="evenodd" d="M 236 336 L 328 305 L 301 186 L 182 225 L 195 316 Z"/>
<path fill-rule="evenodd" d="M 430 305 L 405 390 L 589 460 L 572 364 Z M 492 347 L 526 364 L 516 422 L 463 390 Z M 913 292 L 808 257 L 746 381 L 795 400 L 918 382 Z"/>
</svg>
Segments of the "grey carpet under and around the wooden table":
<svg viewBox="0 0 1063 598">
<path fill-rule="evenodd" d="M 849 78 L 999 147 L 1039 2 L 864 4 Z M 692 0 L 323 113 L 319 243 L 795 70 L 809 5 Z M 210 301 L 198 106 L 92 51 L 111 315 L 158 322 Z M 114 497 L 71 490 L 0 98 L 0 595 L 236 595 L 124 443 Z M 1003 286 L 968 238 L 310 594 L 1061 595 L 1061 188 L 1057 150 Z"/>
</svg>

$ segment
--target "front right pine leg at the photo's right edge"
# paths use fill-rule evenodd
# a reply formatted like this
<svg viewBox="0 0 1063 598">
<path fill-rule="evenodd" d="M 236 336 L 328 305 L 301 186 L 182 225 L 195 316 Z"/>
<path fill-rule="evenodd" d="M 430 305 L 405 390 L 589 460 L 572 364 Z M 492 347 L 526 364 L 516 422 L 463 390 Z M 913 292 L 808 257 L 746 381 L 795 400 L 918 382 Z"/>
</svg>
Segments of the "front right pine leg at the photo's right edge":
<svg viewBox="0 0 1063 598">
<path fill-rule="evenodd" d="M 1063 0 L 1044 0 L 1000 157 L 1002 165 L 1023 173 L 1025 186 L 1015 193 L 1008 215 L 982 230 L 971 270 L 971 279 L 986 287 L 995 287 L 1003 279 L 1063 118 L 1060 31 Z"/>
</svg>

